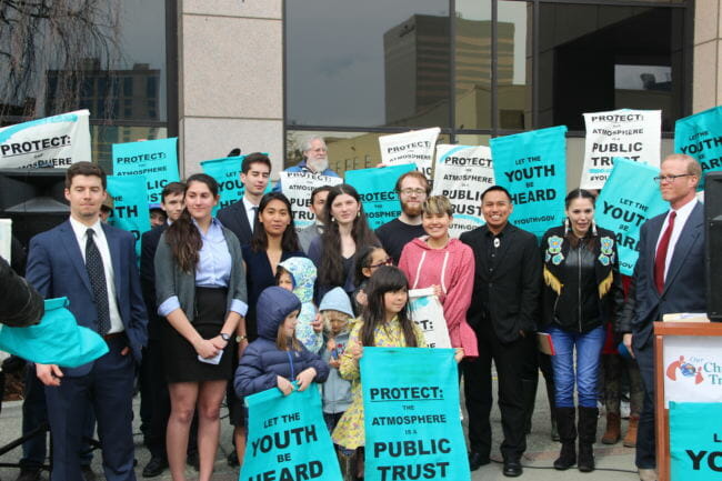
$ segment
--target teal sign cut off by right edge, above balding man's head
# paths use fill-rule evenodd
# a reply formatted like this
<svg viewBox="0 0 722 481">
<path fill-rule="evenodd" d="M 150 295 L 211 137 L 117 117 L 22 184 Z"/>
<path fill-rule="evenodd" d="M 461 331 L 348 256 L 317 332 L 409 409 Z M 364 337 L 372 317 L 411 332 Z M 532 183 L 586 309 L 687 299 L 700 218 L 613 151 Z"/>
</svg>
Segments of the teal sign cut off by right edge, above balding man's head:
<svg viewBox="0 0 722 481">
<path fill-rule="evenodd" d="M 674 151 L 700 161 L 702 173 L 722 170 L 722 106 L 674 122 Z M 704 188 L 704 176 L 699 189 Z"/>
</svg>

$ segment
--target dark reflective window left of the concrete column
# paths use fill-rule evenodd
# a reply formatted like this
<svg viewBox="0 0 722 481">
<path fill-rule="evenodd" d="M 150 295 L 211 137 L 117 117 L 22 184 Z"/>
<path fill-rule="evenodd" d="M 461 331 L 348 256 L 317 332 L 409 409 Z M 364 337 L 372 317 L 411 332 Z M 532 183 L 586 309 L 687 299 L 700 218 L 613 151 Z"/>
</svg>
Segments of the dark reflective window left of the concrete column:
<svg viewBox="0 0 722 481">
<path fill-rule="evenodd" d="M 72 3 L 3 7 L 0 126 L 88 109 L 93 160 L 110 172 L 121 131 L 166 137 L 166 2 L 87 0 L 68 18 Z"/>
</svg>

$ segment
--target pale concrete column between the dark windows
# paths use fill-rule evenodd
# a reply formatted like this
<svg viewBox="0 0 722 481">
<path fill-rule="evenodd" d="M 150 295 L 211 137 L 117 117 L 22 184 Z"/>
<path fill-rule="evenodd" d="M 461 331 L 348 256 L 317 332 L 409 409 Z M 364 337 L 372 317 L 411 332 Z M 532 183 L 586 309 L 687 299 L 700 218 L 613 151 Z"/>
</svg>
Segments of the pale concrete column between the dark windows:
<svg viewBox="0 0 722 481">
<path fill-rule="evenodd" d="M 282 0 L 179 0 L 181 176 L 200 162 L 268 152 L 283 166 Z"/>
</svg>

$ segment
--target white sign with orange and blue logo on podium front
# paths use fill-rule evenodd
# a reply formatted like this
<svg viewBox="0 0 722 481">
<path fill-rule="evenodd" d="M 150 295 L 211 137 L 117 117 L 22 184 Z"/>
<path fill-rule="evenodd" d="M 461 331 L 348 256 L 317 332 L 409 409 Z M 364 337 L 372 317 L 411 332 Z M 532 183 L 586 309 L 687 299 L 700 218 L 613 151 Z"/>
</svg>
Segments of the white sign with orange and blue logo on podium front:
<svg viewBox="0 0 722 481">
<path fill-rule="evenodd" d="M 664 339 L 664 405 L 722 402 L 722 337 Z"/>
</svg>

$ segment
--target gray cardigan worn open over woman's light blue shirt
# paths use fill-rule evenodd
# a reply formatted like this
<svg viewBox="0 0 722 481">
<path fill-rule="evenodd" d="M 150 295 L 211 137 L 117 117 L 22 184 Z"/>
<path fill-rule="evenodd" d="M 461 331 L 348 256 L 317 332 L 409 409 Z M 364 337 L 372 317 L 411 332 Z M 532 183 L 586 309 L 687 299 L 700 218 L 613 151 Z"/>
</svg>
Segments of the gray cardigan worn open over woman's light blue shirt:
<svg viewBox="0 0 722 481">
<path fill-rule="evenodd" d="M 222 227 L 223 237 L 228 250 L 231 253 L 231 277 L 228 281 L 228 297 L 225 300 L 225 312 L 230 310 L 233 299 L 248 302 L 245 291 L 245 269 L 243 269 L 243 255 L 241 254 L 241 243 L 229 229 Z M 173 295 L 178 295 L 181 309 L 189 321 L 193 322 L 195 309 L 195 272 L 183 272 L 176 260 L 173 252 L 166 241 L 166 233 L 158 242 L 156 251 L 156 301 L 158 305 Z M 157 305 L 157 307 L 158 307 Z"/>
</svg>

